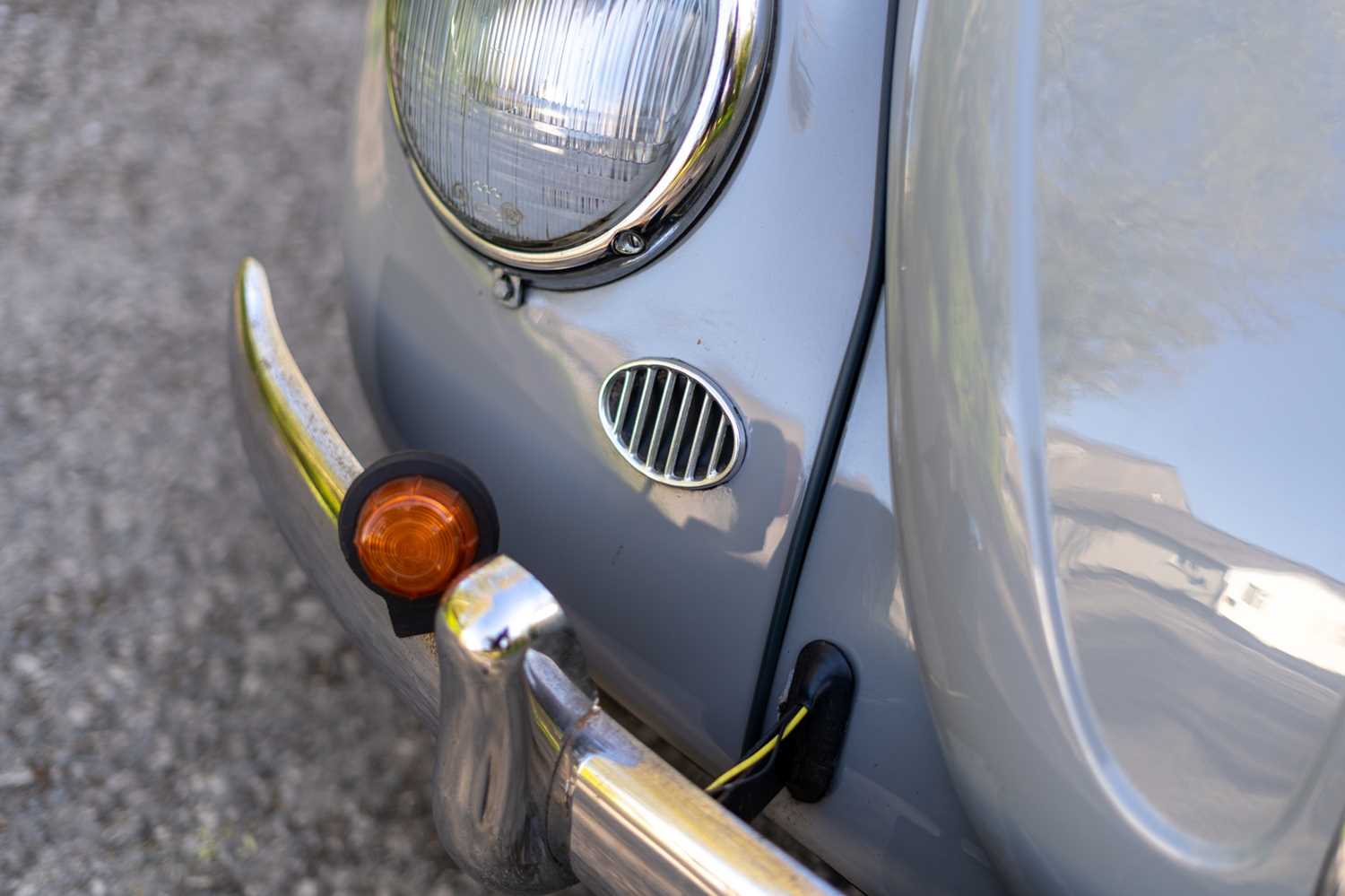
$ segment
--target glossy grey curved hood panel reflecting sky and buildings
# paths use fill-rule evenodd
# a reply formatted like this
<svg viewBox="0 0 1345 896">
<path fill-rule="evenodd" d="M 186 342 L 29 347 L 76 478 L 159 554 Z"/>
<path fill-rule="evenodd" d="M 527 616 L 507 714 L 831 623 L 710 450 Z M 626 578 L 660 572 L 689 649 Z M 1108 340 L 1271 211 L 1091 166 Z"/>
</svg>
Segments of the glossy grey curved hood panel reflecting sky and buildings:
<svg viewBox="0 0 1345 896">
<path fill-rule="evenodd" d="M 1025 892 L 1311 892 L 1345 809 L 1340 9 L 929 1 L 915 46 L 893 475 L 958 790 Z"/>
</svg>

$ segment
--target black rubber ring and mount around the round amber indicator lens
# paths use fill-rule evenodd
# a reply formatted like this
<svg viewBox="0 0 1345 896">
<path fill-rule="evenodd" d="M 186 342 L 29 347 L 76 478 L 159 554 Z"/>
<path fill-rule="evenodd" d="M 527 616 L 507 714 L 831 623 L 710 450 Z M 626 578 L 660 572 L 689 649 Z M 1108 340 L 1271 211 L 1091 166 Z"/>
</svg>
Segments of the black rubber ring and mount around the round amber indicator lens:
<svg viewBox="0 0 1345 896">
<path fill-rule="evenodd" d="M 438 607 L 438 600 L 434 597 L 410 600 L 379 588 L 370 581 L 364 566 L 359 562 L 359 552 L 355 550 L 355 523 L 359 522 L 359 511 L 364 502 L 375 488 L 402 476 L 437 479 L 463 496 L 476 517 L 477 546 L 473 562 L 499 550 L 500 523 L 495 502 L 476 474 L 465 464 L 429 451 L 398 451 L 387 455 L 366 467 L 364 472 L 350 484 L 346 498 L 340 502 L 340 514 L 336 517 L 336 537 L 340 539 L 342 554 L 346 556 L 346 562 L 355 576 L 387 603 L 387 618 L 393 623 L 393 632 L 398 638 L 410 638 L 434 631 L 434 609 Z"/>
</svg>

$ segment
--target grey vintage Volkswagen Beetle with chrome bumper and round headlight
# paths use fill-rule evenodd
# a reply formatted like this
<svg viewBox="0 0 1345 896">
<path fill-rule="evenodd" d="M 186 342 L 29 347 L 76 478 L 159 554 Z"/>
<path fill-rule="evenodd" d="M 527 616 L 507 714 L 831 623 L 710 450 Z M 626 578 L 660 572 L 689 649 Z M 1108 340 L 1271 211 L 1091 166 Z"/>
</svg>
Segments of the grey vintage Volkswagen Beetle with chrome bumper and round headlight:
<svg viewBox="0 0 1345 896">
<path fill-rule="evenodd" d="M 374 0 L 360 65 L 397 451 L 252 260 L 234 393 L 460 865 L 1338 892 L 1334 4 Z"/>
</svg>

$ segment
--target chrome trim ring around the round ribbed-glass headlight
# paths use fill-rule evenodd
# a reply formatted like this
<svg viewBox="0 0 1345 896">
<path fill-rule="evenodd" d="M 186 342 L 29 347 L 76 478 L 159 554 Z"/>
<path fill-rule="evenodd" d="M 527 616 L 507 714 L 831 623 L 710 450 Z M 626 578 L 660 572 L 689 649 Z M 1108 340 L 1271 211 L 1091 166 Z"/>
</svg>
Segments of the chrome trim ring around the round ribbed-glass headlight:
<svg viewBox="0 0 1345 896">
<path fill-rule="evenodd" d="M 453 214 L 421 170 L 393 86 L 387 40 L 395 3 L 387 0 L 386 15 L 381 19 L 389 108 L 412 175 L 440 221 L 480 254 L 518 270 L 561 272 L 607 260 L 620 265 L 613 272 L 613 276 L 620 276 L 651 261 L 670 245 L 703 210 L 732 167 L 765 83 L 776 0 L 720 0 L 709 75 L 687 135 L 668 161 L 667 171 L 644 199 L 619 221 L 599 222 L 573 245 L 557 242 L 541 250 L 508 249 L 473 231 Z M 646 249 L 638 256 L 620 256 L 612 248 L 617 234 L 628 230 L 644 239 Z"/>
</svg>

